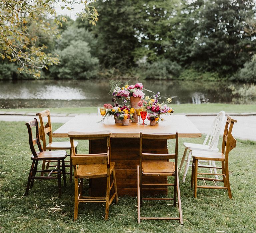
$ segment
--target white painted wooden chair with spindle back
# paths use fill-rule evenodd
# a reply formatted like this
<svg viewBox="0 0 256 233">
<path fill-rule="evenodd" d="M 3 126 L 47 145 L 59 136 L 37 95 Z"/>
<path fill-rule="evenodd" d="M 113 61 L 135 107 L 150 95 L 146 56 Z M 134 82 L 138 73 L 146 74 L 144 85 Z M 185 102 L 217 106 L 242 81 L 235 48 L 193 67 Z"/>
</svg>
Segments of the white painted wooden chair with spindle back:
<svg viewBox="0 0 256 233">
<path fill-rule="evenodd" d="M 188 150 L 189 150 L 189 153 L 188 153 L 188 156 L 186 158 L 185 170 L 184 170 L 183 179 L 182 179 L 183 182 L 185 182 L 186 175 L 187 175 L 187 172 L 188 172 L 188 168 L 192 166 L 192 164 L 190 164 L 190 161 L 192 161 L 192 159 L 191 159 L 192 150 L 204 150 L 204 151 L 212 151 L 212 152 L 218 152 L 219 151 L 218 142 L 219 142 L 219 137 L 220 137 L 220 130 L 221 130 L 222 125 L 224 124 L 225 115 L 226 114 L 225 114 L 224 111 L 221 111 L 221 112 L 218 113 L 215 120 L 213 121 L 210 132 L 206 135 L 206 138 L 205 138 L 203 144 L 195 144 L 195 143 L 184 142 L 183 145 L 185 146 L 185 150 L 184 150 L 184 153 L 183 153 L 183 157 L 181 159 L 179 174 L 181 172 L 181 168 L 182 168 L 183 163 L 185 161 L 186 154 L 187 154 Z M 208 143 L 207 143 L 207 141 L 208 141 Z M 200 162 L 201 163 L 202 162 L 208 162 L 208 165 L 205 165 L 204 167 L 209 167 L 211 173 L 212 173 L 211 167 L 216 167 L 215 161 L 200 160 L 198 165 L 200 165 Z M 217 173 L 216 168 L 214 168 L 213 170 L 214 170 L 214 173 L 216 174 Z M 215 175 L 215 177 L 218 178 L 217 175 Z"/>
</svg>

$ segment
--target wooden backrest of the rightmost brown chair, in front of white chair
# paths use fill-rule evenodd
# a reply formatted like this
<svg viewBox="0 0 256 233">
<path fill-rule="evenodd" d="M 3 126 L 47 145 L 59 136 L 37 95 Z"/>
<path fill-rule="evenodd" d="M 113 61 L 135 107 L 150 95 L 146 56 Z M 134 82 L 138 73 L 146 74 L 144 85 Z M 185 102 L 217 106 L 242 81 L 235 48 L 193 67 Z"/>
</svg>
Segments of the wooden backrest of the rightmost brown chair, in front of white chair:
<svg viewBox="0 0 256 233">
<path fill-rule="evenodd" d="M 221 152 L 225 154 L 226 163 L 228 163 L 229 152 L 236 147 L 236 139 L 232 135 L 232 129 L 235 122 L 237 122 L 237 120 L 232 119 L 231 116 L 227 116 L 221 150 Z"/>
</svg>

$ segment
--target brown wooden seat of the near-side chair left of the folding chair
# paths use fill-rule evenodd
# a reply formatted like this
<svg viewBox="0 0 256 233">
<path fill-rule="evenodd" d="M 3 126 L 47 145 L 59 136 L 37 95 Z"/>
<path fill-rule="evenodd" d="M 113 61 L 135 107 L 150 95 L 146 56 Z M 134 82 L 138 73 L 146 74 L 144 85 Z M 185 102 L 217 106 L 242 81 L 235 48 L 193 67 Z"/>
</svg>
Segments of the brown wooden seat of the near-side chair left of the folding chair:
<svg viewBox="0 0 256 233">
<path fill-rule="evenodd" d="M 110 173 L 113 171 L 115 163 L 110 163 Z M 87 164 L 79 165 L 77 169 L 77 175 L 79 178 L 98 178 L 107 176 L 106 164 Z"/>
</svg>

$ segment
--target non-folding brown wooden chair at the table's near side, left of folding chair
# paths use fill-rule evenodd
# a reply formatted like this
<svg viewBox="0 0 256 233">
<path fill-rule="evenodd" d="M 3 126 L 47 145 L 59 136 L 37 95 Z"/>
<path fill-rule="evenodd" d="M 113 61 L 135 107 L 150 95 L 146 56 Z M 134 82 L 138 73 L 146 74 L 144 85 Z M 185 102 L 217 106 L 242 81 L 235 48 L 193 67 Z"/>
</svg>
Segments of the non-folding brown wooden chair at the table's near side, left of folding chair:
<svg viewBox="0 0 256 233">
<path fill-rule="evenodd" d="M 109 206 L 115 198 L 115 203 L 118 202 L 117 185 L 115 175 L 115 163 L 110 162 L 110 131 L 99 131 L 95 133 L 68 132 L 71 147 L 73 150 L 72 163 L 74 165 L 74 180 L 75 180 L 75 207 L 74 221 L 78 215 L 78 205 L 80 202 L 105 202 L 105 220 L 108 219 Z M 100 154 L 76 154 L 74 139 L 76 140 L 97 140 L 106 139 L 106 153 Z M 110 184 L 110 176 L 112 174 L 113 181 Z M 106 196 L 94 197 L 83 196 L 83 179 L 84 178 L 100 178 L 106 177 Z M 78 179 L 80 182 L 78 183 Z M 114 186 L 114 193 L 110 197 L 110 190 Z"/>
</svg>

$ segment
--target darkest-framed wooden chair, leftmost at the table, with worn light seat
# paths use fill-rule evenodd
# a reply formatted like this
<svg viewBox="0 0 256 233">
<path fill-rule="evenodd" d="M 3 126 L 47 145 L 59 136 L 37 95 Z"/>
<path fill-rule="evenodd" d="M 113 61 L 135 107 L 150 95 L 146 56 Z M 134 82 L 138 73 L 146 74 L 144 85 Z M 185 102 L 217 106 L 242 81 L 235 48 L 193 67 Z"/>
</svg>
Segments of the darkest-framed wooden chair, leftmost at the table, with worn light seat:
<svg viewBox="0 0 256 233">
<path fill-rule="evenodd" d="M 57 151 L 44 151 L 39 139 L 39 126 L 38 121 L 35 118 L 26 123 L 28 127 L 28 137 L 29 137 L 29 146 L 32 152 L 31 159 L 32 165 L 28 176 L 28 184 L 25 195 L 28 195 L 29 188 L 33 187 L 34 179 L 58 179 L 58 190 L 59 197 L 61 196 L 61 172 L 63 174 L 64 186 L 66 186 L 66 173 L 65 173 L 65 162 L 64 159 L 67 157 L 67 152 L 65 150 Z M 36 138 L 33 138 L 32 127 L 36 128 Z M 34 145 L 37 144 L 39 152 L 36 152 Z M 42 169 L 37 170 L 38 161 L 52 160 L 57 162 L 57 169 Z M 62 164 L 62 169 L 60 166 L 60 160 Z M 48 176 L 36 176 L 36 172 L 48 172 Z M 53 172 L 57 172 L 57 176 L 51 176 Z"/>
</svg>

